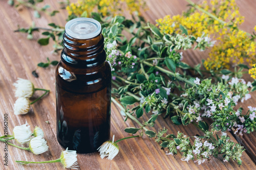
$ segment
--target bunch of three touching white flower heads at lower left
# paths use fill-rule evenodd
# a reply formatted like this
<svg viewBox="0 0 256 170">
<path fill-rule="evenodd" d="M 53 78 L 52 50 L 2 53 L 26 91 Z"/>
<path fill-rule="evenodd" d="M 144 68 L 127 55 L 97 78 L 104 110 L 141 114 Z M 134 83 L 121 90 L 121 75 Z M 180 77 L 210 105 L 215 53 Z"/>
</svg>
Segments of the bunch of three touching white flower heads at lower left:
<svg viewBox="0 0 256 170">
<path fill-rule="evenodd" d="M 44 139 L 44 132 L 39 127 L 35 127 L 34 133 L 32 133 L 27 122 L 14 127 L 13 137 L 20 144 L 29 142 L 29 149 L 33 154 L 37 155 L 48 151 L 49 147 Z"/>
</svg>

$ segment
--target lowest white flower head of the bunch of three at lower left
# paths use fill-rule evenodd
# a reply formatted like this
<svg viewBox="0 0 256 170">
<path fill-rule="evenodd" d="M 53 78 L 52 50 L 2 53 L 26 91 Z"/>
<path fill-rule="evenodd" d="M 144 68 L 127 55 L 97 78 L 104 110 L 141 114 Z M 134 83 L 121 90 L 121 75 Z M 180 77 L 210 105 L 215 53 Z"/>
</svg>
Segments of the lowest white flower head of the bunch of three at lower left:
<svg viewBox="0 0 256 170">
<path fill-rule="evenodd" d="M 29 149 L 35 155 L 48 151 L 48 148 L 46 140 L 41 138 L 41 136 L 34 137 L 30 140 Z"/>
</svg>

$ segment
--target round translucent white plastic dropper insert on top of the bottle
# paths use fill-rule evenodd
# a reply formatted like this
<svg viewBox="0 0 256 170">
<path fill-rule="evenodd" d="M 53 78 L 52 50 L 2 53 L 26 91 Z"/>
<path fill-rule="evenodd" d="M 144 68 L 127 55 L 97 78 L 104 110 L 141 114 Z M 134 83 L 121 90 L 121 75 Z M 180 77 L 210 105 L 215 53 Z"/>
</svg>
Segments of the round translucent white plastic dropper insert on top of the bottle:
<svg viewBox="0 0 256 170">
<path fill-rule="evenodd" d="M 66 33 L 77 39 L 90 39 L 101 32 L 99 21 L 93 18 L 75 18 L 66 23 Z"/>
</svg>

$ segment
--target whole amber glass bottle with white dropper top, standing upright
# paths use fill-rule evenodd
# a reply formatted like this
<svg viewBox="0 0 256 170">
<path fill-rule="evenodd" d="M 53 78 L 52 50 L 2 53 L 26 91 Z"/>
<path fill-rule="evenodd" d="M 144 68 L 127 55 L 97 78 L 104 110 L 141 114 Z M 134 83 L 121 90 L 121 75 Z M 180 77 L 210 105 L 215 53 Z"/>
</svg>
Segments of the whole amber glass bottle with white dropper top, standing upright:
<svg viewBox="0 0 256 170">
<path fill-rule="evenodd" d="M 95 152 L 110 137 L 111 68 L 98 21 L 67 22 L 56 69 L 57 139 L 78 153 Z"/>
</svg>

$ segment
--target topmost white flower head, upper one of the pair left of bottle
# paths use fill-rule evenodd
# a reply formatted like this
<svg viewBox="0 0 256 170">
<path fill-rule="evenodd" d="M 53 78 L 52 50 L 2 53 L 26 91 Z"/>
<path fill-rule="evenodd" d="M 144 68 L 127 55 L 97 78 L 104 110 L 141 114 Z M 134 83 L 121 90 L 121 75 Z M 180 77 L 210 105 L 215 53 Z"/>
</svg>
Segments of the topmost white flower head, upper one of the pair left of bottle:
<svg viewBox="0 0 256 170">
<path fill-rule="evenodd" d="M 15 97 L 17 98 L 30 98 L 34 93 L 34 85 L 31 81 L 20 79 L 13 83 L 15 86 Z"/>
</svg>

